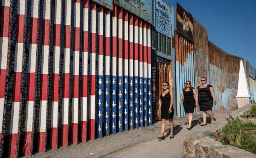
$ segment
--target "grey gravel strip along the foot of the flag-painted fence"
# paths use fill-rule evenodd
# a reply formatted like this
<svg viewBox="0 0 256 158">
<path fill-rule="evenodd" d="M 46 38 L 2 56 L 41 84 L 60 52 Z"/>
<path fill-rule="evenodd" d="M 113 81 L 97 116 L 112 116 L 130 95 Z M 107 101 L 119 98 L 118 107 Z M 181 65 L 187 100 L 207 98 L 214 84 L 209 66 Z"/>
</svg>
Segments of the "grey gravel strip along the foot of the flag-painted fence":
<svg viewBox="0 0 256 158">
<path fill-rule="evenodd" d="M 200 123 L 198 120 L 202 117 L 201 113 L 193 115 L 193 120 Z M 177 117 L 174 122 L 174 134 L 177 134 L 179 126 L 188 122 L 185 117 Z M 166 131 L 170 129 L 169 122 L 166 122 Z M 139 129 L 123 131 L 103 138 L 97 138 L 94 141 L 86 143 L 81 142 L 78 145 L 70 144 L 68 147 L 60 147 L 58 150 L 50 150 L 45 153 L 35 153 L 33 158 L 51 158 L 51 157 L 108 157 L 110 153 L 122 150 L 128 146 L 150 141 L 160 135 L 161 121 L 153 124 L 152 126 L 143 127 Z"/>
</svg>

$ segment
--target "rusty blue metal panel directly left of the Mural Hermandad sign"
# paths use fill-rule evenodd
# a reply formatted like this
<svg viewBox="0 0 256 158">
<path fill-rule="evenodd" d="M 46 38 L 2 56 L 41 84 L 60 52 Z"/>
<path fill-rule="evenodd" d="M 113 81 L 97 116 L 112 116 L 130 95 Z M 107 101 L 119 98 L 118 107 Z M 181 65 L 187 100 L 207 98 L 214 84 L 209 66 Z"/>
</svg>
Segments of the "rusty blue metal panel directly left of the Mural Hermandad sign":
<svg viewBox="0 0 256 158">
<path fill-rule="evenodd" d="M 118 6 L 128 10 L 129 12 L 137 15 L 143 20 L 154 24 L 153 18 L 153 6 L 154 1 L 152 0 L 114 0 L 114 3 Z"/>
</svg>

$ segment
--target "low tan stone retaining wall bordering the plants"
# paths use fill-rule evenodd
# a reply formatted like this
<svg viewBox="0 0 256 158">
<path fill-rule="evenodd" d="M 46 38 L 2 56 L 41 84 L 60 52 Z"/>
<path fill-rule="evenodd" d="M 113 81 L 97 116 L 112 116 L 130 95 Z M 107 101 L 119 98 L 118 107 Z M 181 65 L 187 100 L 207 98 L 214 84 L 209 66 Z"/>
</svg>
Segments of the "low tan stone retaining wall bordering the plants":
<svg viewBox="0 0 256 158">
<path fill-rule="evenodd" d="M 230 115 L 233 118 L 250 113 L 251 104 L 237 109 Z M 226 116 L 228 117 L 228 115 Z M 242 150 L 230 145 L 222 145 L 209 136 L 210 132 L 222 131 L 227 124 L 225 118 L 216 120 L 214 124 L 207 125 L 206 128 L 193 132 L 185 136 L 183 140 L 184 158 L 188 157 L 213 157 L 213 158 L 256 158 L 251 152 Z"/>
</svg>

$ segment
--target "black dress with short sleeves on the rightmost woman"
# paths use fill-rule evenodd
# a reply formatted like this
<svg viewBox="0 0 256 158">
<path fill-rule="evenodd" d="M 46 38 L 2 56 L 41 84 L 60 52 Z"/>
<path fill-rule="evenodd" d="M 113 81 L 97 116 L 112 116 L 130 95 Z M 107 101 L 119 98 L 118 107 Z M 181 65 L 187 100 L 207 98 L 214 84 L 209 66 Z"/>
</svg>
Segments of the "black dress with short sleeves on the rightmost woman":
<svg viewBox="0 0 256 158">
<path fill-rule="evenodd" d="M 197 87 L 198 90 L 198 105 L 200 108 L 200 111 L 207 111 L 207 110 L 212 110 L 213 106 L 213 98 L 211 96 L 211 91 L 210 87 L 211 85 L 207 85 L 205 88 L 199 88 L 200 86 Z"/>
</svg>

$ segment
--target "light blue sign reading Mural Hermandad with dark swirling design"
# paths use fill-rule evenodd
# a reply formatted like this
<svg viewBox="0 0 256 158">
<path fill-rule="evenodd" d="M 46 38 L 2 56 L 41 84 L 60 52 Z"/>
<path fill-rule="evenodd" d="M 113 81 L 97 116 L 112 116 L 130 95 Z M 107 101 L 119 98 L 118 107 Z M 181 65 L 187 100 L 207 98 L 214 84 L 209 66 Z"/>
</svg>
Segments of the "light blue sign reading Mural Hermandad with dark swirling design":
<svg viewBox="0 0 256 158">
<path fill-rule="evenodd" d="M 171 37 L 171 7 L 162 0 L 156 0 L 156 29 L 167 37 Z"/>
</svg>

